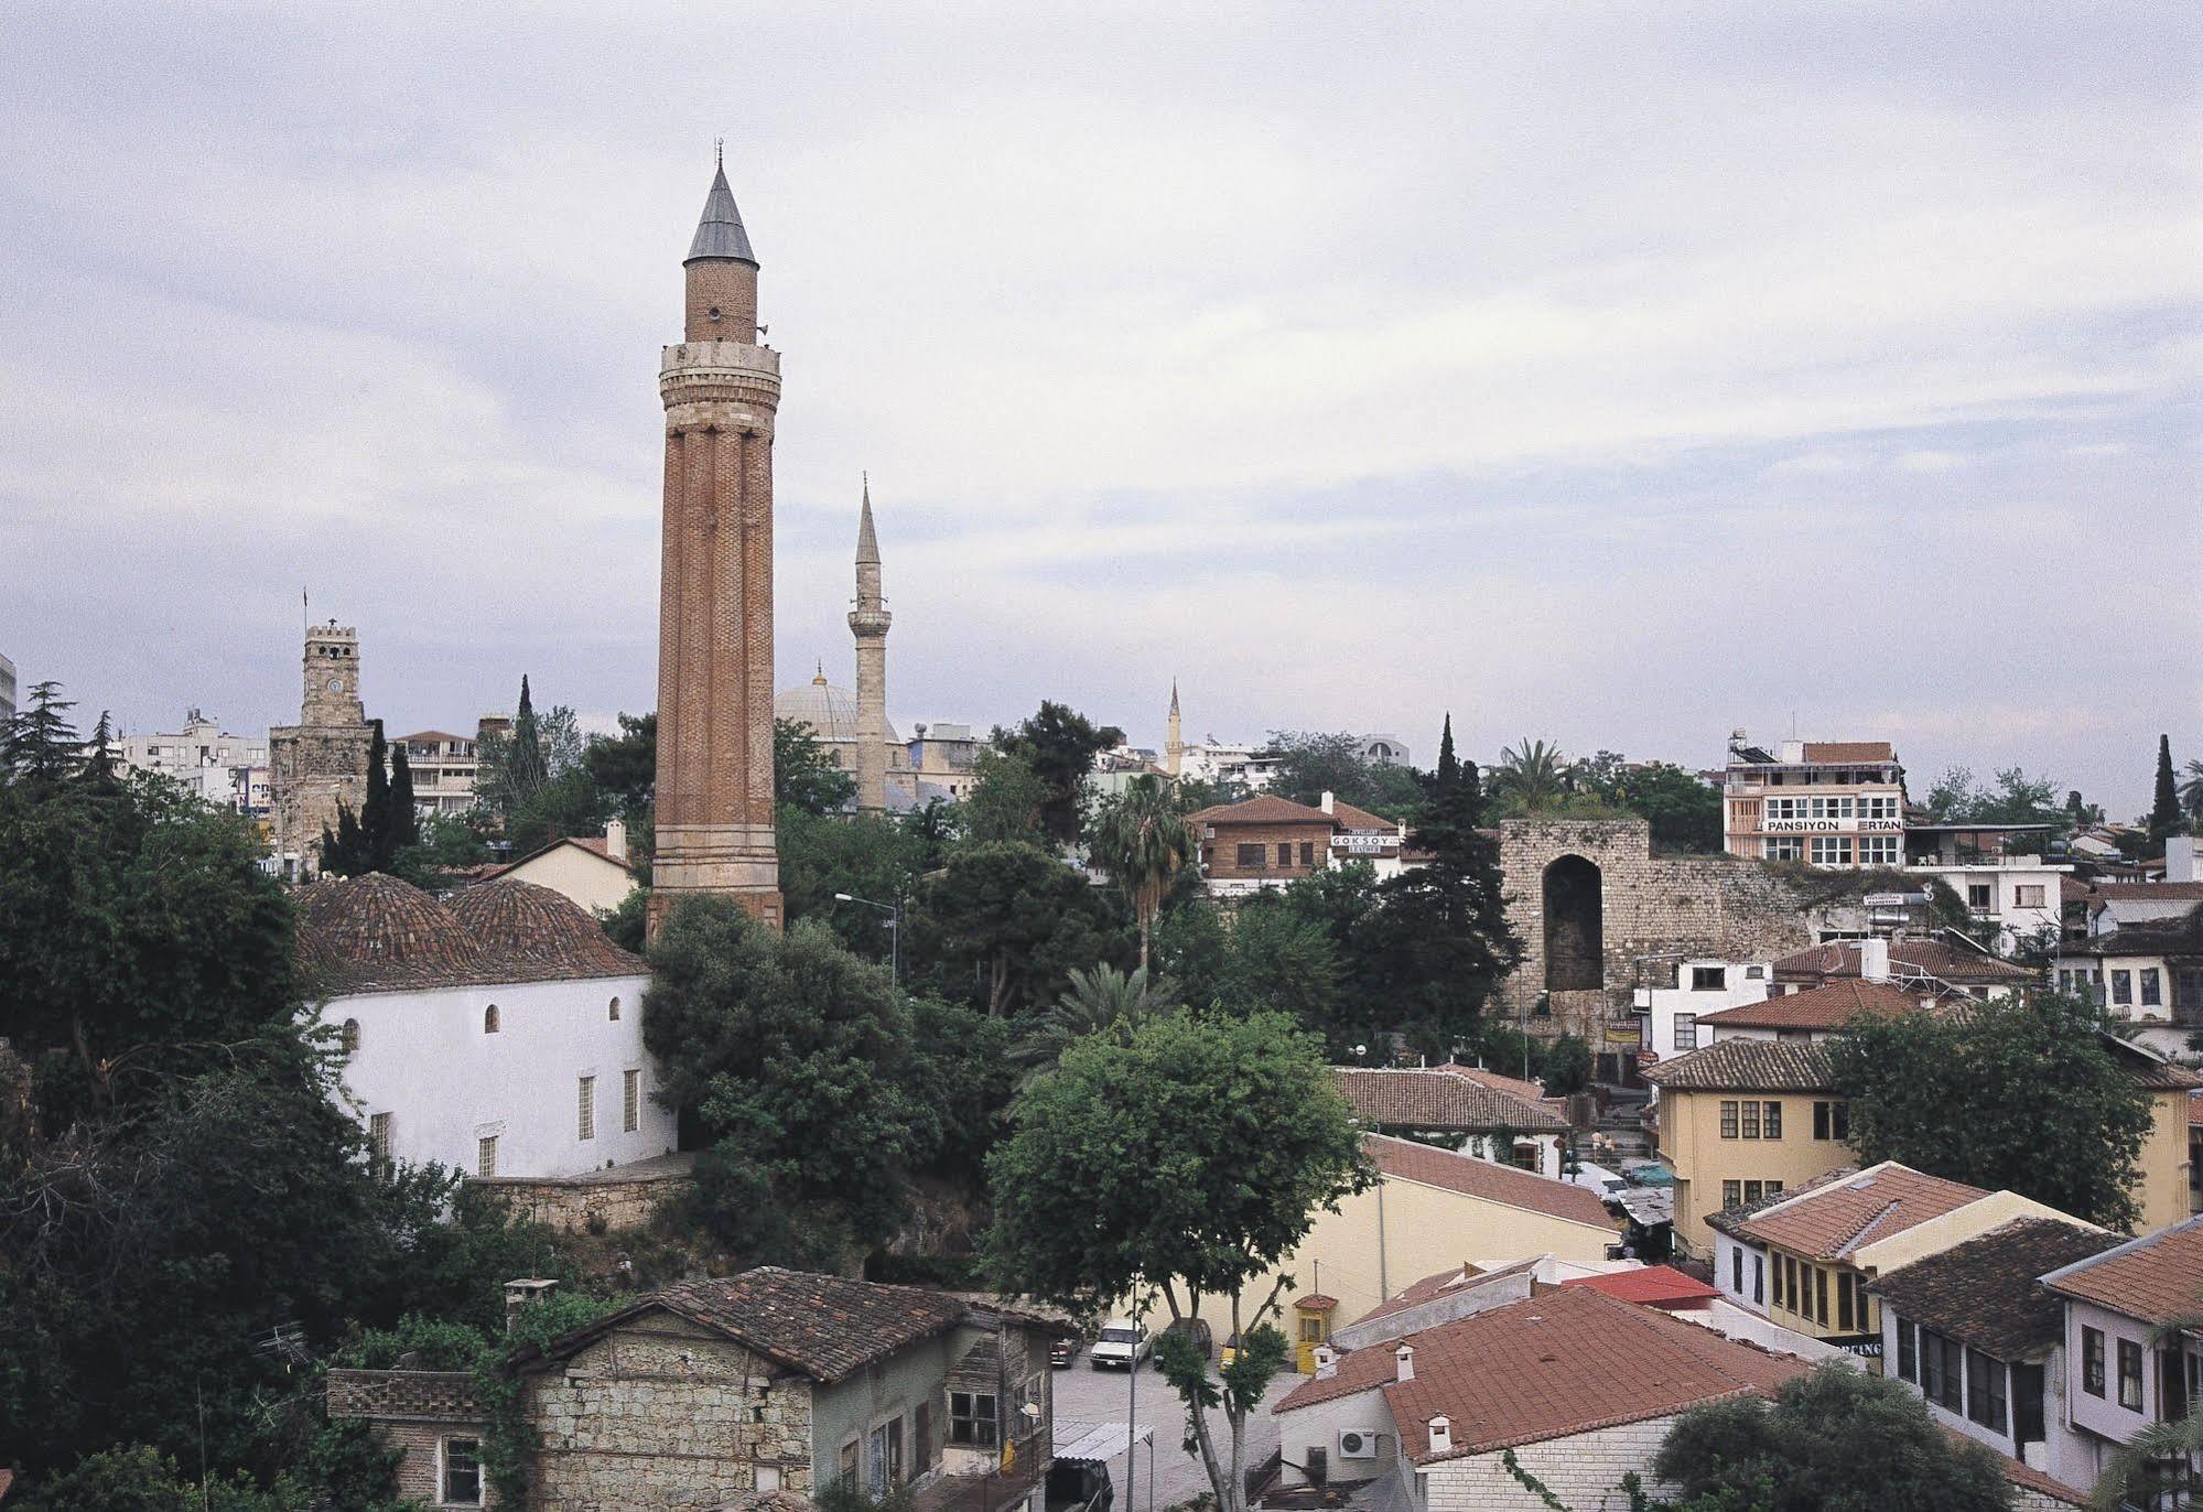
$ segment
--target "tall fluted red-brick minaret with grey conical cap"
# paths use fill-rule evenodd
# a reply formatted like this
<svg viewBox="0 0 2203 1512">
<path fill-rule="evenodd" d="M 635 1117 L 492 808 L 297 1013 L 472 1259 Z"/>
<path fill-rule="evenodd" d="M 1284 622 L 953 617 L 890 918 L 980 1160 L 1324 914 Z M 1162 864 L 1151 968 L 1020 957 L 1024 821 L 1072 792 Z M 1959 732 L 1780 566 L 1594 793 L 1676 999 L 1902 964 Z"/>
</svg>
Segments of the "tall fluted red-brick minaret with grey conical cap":
<svg viewBox="0 0 2203 1512">
<path fill-rule="evenodd" d="M 773 844 L 773 412 L 780 353 L 758 344 L 758 258 L 712 179 L 683 260 L 665 401 L 659 580 L 659 851 L 650 932 L 690 893 L 727 893 L 780 928 Z"/>
</svg>

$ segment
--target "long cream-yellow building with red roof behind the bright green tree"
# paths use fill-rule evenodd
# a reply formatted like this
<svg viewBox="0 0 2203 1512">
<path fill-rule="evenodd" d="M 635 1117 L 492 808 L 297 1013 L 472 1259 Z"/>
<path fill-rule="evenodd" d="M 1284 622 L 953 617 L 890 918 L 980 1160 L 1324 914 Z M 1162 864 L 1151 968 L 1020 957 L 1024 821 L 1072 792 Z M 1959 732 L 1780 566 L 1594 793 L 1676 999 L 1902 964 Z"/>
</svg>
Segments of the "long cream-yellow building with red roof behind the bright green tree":
<svg viewBox="0 0 2203 1512">
<path fill-rule="evenodd" d="M 1412 1140 L 1364 1135 L 1361 1148 L 1377 1166 L 1377 1184 L 1344 1197 L 1337 1212 L 1317 1212 L 1300 1250 L 1280 1267 L 1293 1287 L 1278 1298 L 1287 1316 L 1273 1322 L 1295 1344 L 1313 1342 L 1300 1338 L 1309 1316 L 1293 1314 L 1295 1298 L 1331 1303 L 1322 1309 L 1326 1322 L 1359 1318 L 1432 1272 L 1463 1263 L 1489 1270 L 1540 1254 L 1591 1265 L 1621 1239 L 1591 1188 Z M 1242 1320 L 1271 1285 L 1273 1276 L 1247 1285 Z M 1231 1298 L 1203 1300 L 1201 1316 L 1225 1342 Z"/>
</svg>

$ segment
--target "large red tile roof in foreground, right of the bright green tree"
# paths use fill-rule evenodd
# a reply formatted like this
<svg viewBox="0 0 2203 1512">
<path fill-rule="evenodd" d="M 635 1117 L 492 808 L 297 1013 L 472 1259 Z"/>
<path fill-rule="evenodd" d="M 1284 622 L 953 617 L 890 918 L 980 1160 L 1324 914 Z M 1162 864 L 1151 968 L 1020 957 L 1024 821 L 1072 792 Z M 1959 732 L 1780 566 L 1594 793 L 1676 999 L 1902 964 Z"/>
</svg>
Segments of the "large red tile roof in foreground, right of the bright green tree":
<svg viewBox="0 0 2203 1512">
<path fill-rule="evenodd" d="M 1372 1344 L 1344 1356 L 1333 1378 L 1304 1380 L 1273 1411 L 1383 1391 L 1401 1450 L 1432 1464 L 1771 1395 L 1811 1369 L 1586 1287 L 1555 1287 L 1406 1342 L 1414 1344 L 1414 1380 L 1394 1380 L 1394 1347 Z M 1432 1452 L 1430 1419 L 1439 1415 L 1452 1419 L 1454 1444 Z"/>
</svg>

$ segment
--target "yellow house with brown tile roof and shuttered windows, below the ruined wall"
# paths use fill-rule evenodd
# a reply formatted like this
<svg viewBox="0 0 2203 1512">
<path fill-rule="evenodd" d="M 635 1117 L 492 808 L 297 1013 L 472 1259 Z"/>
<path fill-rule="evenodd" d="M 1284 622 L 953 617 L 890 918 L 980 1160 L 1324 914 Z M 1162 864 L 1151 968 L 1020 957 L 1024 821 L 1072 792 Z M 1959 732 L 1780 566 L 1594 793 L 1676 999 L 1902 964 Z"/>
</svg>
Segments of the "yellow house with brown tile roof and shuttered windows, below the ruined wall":
<svg viewBox="0 0 2203 1512">
<path fill-rule="evenodd" d="M 1820 1045 L 1721 1040 L 1643 1076 L 1659 1089 L 1659 1153 L 1674 1168 L 1674 1241 L 1701 1261 L 1714 1254 L 1707 1217 L 1853 1162 L 1851 1111 Z"/>
</svg>

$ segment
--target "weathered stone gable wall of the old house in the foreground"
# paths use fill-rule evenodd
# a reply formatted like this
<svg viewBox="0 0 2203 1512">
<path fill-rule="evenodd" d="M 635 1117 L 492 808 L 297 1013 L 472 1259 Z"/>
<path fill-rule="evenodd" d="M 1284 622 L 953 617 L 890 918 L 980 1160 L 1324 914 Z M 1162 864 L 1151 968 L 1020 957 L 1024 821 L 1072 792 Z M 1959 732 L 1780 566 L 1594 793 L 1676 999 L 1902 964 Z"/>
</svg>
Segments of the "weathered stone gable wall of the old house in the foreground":
<svg viewBox="0 0 2203 1512">
<path fill-rule="evenodd" d="M 760 1464 L 811 1492 L 811 1382 L 679 1318 L 645 1314 L 522 1391 L 535 1512 L 720 1508 Z"/>
</svg>

